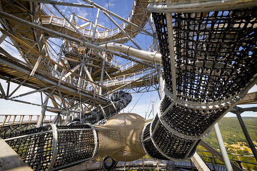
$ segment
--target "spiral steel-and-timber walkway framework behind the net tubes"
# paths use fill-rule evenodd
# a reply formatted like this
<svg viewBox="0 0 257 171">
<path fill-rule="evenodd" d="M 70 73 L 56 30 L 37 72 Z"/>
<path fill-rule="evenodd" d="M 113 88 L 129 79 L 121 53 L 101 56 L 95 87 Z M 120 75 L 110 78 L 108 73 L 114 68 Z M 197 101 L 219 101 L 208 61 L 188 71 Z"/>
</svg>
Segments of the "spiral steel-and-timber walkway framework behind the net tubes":
<svg viewBox="0 0 257 171">
<path fill-rule="evenodd" d="M 81 111 L 85 114 L 93 110 L 93 108 L 100 106 L 100 104 L 106 103 L 109 100 L 110 94 L 117 91 L 120 87 L 127 92 L 134 91 L 135 93 L 152 90 L 159 91 L 160 87 L 163 87 L 162 79 L 160 81 L 160 69 L 156 72 L 159 65 L 149 61 L 138 60 L 136 59 L 138 56 L 128 56 L 125 52 L 121 53 L 121 51 L 117 52 L 107 49 L 105 46 L 98 46 L 110 42 L 125 43 L 131 41 L 138 49 L 141 49 L 133 38 L 139 32 L 143 32 L 143 34 L 153 36 L 152 48 L 159 51 L 156 42 L 156 31 L 154 26 L 152 27 L 150 13 L 146 10 L 147 2 L 134 1 L 133 9 L 128 19 L 123 19 L 91 1 L 85 0 L 84 2 L 89 5 L 77 6 L 81 8 L 98 8 L 98 11 L 102 11 L 108 16 L 117 28 L 113 30 L 103 28 L 106 31 L 98 31 L 97 27 L 102 27 L 97 23 L 98 17 L 96 17 L 95 22 L 76 14 L 70 14 L 70 19 L 67 16 L 65 17 L 65 15 L 63 15 L 64 18 L 58 18 L 55 15 L 48 15 L 42 9 L 43 6 L 46 6 L 45 4 L 50 3 L 75 6 L 72 3 L 58 2 L 60 3 L 58 4 L 54 1 L 40 0 L 1 1 L 0 22 L 4 29 L 1 29 L 3 34 L 0 37 L 0 42 L 2 43 L 6 37 L 9 37 L 13 46 L 17 48 L 24 60 L 24 62 L 17 60 L 9 51 L 0 48 L 0 78 L 6 80 L 8 84 L 6 91 L 0 84 L 1 98 L 38 105 L 42 107 L 42 110 L 45 109 L 61 113 L 62 115 L 71 113 L 71 116 L 78 116 Z M 57 6 L 53 6 L 58 10 Z M 52 12 L 50 13 L 53 14 Z M 61 13 L 60 10 L 59 13 Z M 84 20 L 85 24 L 83 26 L 77 25 L 74 17 Z M 118 18 L 124 23 L 120 26 L 115 23 L 112 17 Z M 147 22 L 152 27 L 151 32 L 144 29 Z M 171 34 L 171 32 L 167 34 Z M 56 44 L 60 47 L 59 51 L 52 47 L 54 42 L 51 42 L 51 37 L 59 38 L 63 41 L 60 45 Z M 130 62 L 122 66 L 114 60 L 114 55 L 127 59 Z M 175 67 L 172 69 L 175 69 Z M 172 72 L 176 73 L 176 71 Z M 145 77 L 147 74 L 149 75 Z M 176 80 L 175 77 L 173 74 L 170 80 Z M 18 84 L 17 88 L 12 92 L 9 89 L 10 83 Z M 173 83 L 171 81 L 169 88 L 173 88 L 174 91 L 176 85 Z M 21 86 L 35 90 L 13 96 Z M 41 104 L 19 100 L 19 97 L 36 92 L 41 93 Z M 46 96 L 44 100 L 42 94 Z M 179 99 L 176 99 L 174 97 L 175 94 L 166 98 L 182 104 L 183 100 L 181 102 Z M 48 100 L 53 102 L 54 107 L 47 105 Z M 252 99 L 250 100 L 252 102 Z M 240 103 L 243 99 L 240 98 L 238 101 Z M 246 102 L 249 101 L 246 100 Z M 245 103 L 245 101 L 242 103 Z M 235 107 L 232 110 L 234 110 L 240 121 L 240 113 L 252 109 L 255 110 L 256 108 L 243 109 Z M 44 113 L 41 116 L 44 116 Z M 45 124 L 42 118 L 44 117 L 37 119 L 42 120 L 39 124 L 40 126 Z M 62 122 L 64 119 L 60 119 L 60 121 Z M 21 120 L 21 122 L 23 121 Z M 57 123 L 57 120 L 49 120 L 48 122 Z M 58 125 L 61 125 L 61 122 Z M 3 127 L 5 123 L 2 124 Z M 38 125 L 38 122 L 34 124 L 29 123 L 29 128 L 36 125 Z M 244 130 L 247 141 L 251 142 L 242 121 L 240 125 Z M 14 125 L 9 127 L 13 127 L 12 131 L 28 129 L 26 124 L 24 126 L 19 124 L 17 127 Z M 5 133 L 5 131 L 2 129 L 1 133 Z M 253 145 L 250 143 L 249 145 L 252 148 Z"/>
</svg>

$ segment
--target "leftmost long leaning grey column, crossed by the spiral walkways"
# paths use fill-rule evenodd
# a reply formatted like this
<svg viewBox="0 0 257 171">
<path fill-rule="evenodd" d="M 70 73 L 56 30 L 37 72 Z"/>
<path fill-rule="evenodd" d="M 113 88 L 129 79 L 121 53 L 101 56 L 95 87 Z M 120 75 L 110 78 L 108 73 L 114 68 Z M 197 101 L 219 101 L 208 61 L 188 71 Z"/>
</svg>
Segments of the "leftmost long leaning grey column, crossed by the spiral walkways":
<svg viewBox="0 0 257 171">
<path fill-rule="evenodd" d="M 74 18 L 74 14 L 75 13 L 72 13 L 71 18 L 70 18 L 70 22 L 72 22 L 72 20 Z M 65 40 L 63 40 L 61 48 L 60 48 L 60 51 L 58 53 L 57 61 L 56 61 L 57 63 L 59 63 L 60 60 L 61 60 L 61 56 L 62 56 L 62 53 L 63 53 L 64 45 L 65 45 Z M 58 65 L 55 65 L 55 69 L 54 69 L 54 71 L 52 73 L 52 76 L 54 76 L 54 77 L 56 76 L 57 69 L 58 69 Z M 44 102 L 44 104 L 43 104 L 43 106 L 41 108 L 41 112 L 40 112 L 40 115 L 39 115 L 38 123 L 36 125 L 37 128 L 42 126 L 43 118 L 44 118 L 44 115 L 45 115 L 45 110 L 47 108 L 46 105 L 48 103 L 48 99 L 47 100 L 46 99 L 47 99 L 47 97 L 45 97 L 45 102 Z"/>
</svg>

